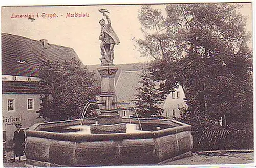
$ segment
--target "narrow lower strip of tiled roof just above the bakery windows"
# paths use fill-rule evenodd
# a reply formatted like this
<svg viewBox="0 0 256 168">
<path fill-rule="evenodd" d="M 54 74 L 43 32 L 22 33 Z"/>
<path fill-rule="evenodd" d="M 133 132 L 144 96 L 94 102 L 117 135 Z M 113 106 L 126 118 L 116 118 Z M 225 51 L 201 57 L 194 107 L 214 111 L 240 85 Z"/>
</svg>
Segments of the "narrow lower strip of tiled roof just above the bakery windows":
<svg viewBox="0 0 256 168">
<path fill-rule="evenodd" d="M 2 93 L 37 93 L 38 82 L 2 81 Z"/>
</svg>

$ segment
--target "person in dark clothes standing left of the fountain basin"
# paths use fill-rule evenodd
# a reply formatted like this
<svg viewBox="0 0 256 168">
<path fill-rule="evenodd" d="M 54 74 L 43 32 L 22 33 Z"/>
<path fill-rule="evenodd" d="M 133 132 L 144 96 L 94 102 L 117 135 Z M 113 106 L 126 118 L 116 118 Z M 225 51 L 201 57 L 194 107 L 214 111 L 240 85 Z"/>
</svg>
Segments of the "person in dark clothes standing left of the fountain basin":
<svg viewBox="0 0 256 168">
<path fill-rule="evenodd" d="M 14 141 L 13 161 L 15 161 L 15 157 L 19 157 L 19 161 L 20 161 L 20 157 L 24 155 L 25 133 L 23 130 L 20 129 L 22 128 L 21 123 L 16 123 L 15 126 L 17 130 L 14 132 L 14 135 L 13 135 L 13 141 Z"/>
</svg>

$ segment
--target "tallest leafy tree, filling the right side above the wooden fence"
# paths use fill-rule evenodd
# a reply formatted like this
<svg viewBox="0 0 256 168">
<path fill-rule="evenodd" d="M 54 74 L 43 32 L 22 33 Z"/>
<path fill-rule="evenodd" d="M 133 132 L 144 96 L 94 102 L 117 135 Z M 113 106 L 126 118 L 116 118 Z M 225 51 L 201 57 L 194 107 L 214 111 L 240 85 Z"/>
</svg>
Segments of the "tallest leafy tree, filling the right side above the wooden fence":
<svg viewBox="0 0 256 168">
<path fill-rule="evenodd" d="M 150 71 L 154 81 L 163 82 L 165 94 L 177 83 L 183 87 L 188 113 L 182 121 L 209 120 L 210 126 L 222 117 L 226 126 L 252 119 L 252 51 L 240 8 L 237 3 L 171 4 L 165 17 L 150 5 L 139 11 L 145 38 L 135 41 L 142 55 L 154 58 Z"/>
</svg>

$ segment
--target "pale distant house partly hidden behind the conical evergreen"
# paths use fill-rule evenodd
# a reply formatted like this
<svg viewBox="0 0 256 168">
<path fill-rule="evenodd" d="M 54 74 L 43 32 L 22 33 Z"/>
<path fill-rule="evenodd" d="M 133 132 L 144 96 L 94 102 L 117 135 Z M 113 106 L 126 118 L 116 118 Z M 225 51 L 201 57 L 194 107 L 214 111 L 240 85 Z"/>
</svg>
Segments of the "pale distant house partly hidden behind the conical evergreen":
<svg viewBox="0 0 256 168">
<path fill-rule="evenodd" d="M 116 95 L 118 102 L 131 102 L 136 99 L 138 91 L 137 87 L 140 87 L 141 71 L 122 71 L 116 82 Z M 185 108 L 186 103 L 184 101 L 185 94 L 181 86 L 175 89 L 174 92 L 167 95 L 166 100 L 160 105 L 164 109 L 162 114 L 166 118 L 173 118 L 180 116 L 180 108 Z M 119 104 L 119 113 L 122 117 L 130 116 L 134 113 L 134 110 L 129 104 Z"/>
</svg>

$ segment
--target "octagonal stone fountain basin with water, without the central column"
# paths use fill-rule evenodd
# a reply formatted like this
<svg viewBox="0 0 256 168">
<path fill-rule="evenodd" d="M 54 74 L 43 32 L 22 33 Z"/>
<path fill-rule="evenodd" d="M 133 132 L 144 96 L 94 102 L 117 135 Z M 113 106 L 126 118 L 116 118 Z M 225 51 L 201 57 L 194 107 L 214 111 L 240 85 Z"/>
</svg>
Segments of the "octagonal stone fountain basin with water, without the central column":
<svg viewBox="0 0 256 168">
<path fill-rule="evenodd" d="M 175 120 L 123 118 L 115 129 L 126 125 L 125 133 L 104 134 L 90 131 L 95 119 L 79 123 L 33 125 L 27 131 L 25 166 L 154 165 L 189 156 L 193 147 L 191 126 Z"/>
</svg>

